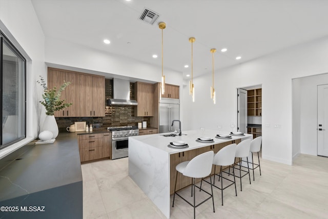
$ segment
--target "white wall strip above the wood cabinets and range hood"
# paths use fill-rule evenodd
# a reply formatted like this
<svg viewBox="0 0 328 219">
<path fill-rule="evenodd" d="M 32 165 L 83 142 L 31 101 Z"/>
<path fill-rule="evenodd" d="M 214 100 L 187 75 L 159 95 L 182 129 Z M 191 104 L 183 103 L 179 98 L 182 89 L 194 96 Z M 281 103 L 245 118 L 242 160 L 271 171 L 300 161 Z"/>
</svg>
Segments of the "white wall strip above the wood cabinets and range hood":
<svg viewBox="0 0 328 219">
<path fill-rule="evenodd" d="M 134 59 L 105 53 L 78 44 L 46 38 L 46 63 L 90 71 L 160 82 L 161 68 Z M 164 65 L 166 83 L 182 85 L 182 72 L 168 70 Z"/>
</svg>

